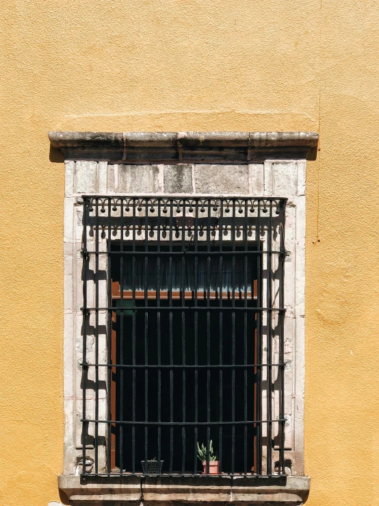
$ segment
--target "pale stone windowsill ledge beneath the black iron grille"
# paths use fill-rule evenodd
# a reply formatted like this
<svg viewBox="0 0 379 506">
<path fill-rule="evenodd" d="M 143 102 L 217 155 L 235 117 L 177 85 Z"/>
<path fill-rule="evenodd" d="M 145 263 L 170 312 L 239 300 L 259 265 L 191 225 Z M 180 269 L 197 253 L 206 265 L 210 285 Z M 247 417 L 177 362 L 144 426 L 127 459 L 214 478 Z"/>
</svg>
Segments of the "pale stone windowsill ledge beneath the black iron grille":
<svg viewBox="0 0 379 506">
<path fill-rule="evenodd" d="M 302 505 L 309 477 L 245 479 L 243 477 L 58 477 L 70 504 L 154 503 Z"/>
</svg>

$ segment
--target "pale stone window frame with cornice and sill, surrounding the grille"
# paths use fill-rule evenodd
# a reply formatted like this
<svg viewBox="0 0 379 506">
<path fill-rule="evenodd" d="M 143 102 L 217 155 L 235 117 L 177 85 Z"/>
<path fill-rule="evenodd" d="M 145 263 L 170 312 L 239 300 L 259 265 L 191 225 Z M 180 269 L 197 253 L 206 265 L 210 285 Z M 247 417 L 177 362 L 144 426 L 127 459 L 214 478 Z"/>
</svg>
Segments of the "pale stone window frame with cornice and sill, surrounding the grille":
<svg viewBox="0 0 379 506">
<path fill-rule="evenodd" d="M 64 197 L 64 470 L 60 489 L 70 503 L 162 501 L 302 504 L 304 477 L 304 283 L 306 155 L 309 132 L 102 134 L 50 132 L 65 158 Z M 138 177 L 136 177 L 138 174 Z M 148 190 L 148 191 L 146 191 Z M 285 346 L 288 366 L 286 459 L 280 483 L 196 477 L 81 477 L 81 224 L 82 194 L 285 197 Z M 105 353 L 105 352 L 104 352 Z M 86 463 L 91 466 L 91 462 Z M 188 480 L 191 480 L 191 486 Z M 216 480 L 216 481 L 215 481 Z M 222 480 L 222 483 L 220 482 Z M 255 479 L 256 480 L 256 479 Z"/>
</svg>

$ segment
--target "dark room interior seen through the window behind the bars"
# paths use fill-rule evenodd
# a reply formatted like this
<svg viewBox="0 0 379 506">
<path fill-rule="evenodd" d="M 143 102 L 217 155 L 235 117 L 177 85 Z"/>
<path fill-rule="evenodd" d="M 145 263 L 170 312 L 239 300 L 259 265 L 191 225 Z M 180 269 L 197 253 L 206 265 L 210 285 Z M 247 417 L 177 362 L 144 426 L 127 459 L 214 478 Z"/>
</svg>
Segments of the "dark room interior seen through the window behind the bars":
<svg viewBox="0 0 379 506">
<path fill-rule="evenodd" d="M 124 251 L 129 249 L 125 246 Z M 113 247 L 115 251 L 120 249 L 118 244 Z M 187 248 L 193 251 L 190 244 Z M 250 252 L 256 251 L 249 248 Z M 157 246 L 149 249 L 157 251 Z M 144 246 L 136 250 L 144 251 Z M 201 246 L 199 250 L 206 251 Z M 231 251 L 231 247 L 223 250 Z M 235 250 L 242 252 L 244 248 L 236 246 Z M 168 247 L 161 246 L 161 251 L 168 251 Z M 173 246 L 173 251 L 179 253 L 181 249 Z M 220 252 L 220 247 L 212 246 L 212 252 Z M 222 461 L 222 472 L 244 472 L 246 458 L 251 470 L 254 425 L 235 423 L 232 427 L 219 422 L 254 420 L 256 313 L 242 308 L 257 307 L 257 300 L 251 296 L 257 279 L 256 255 L 245 251 L 244 255 L 236 255 L 233 263 L 232 255 L 225 255 L 221 263 L 220 255 L 199 255 L 197 260 L 195 255 L 185 255 L 184 265 L 182 258 L 172 256 L 170 264 L 168 255 L 160 257 L 159 283 L 157 255 L 135 255 L 133 261 L 129 253 L 112 259 L 113 282 L 120 283 L 123 271 L 122 290 L 132 290 L 133 283 L 135 290 L 155 290 L 155 296 L 149 299 L 146 296 L 133 301 L 125 292 L 124 300 L 113 300 L 115 308 L 125 308 L 122 312 L 116 309 L 113 318 L 116 364 L 141 367 L 114 368 L 112 419 L 148 422 L 112 427 L 113 465 L 120 468 L 122 460 L 126 472 L 142 472 L 140 461 L 155 457 L 164 461 L 162 473 L 193 474 L 202 470 L 196 459 L 196 442 L 206 444 L 208 438 Z M 168 292 L 170 288 L 172 292 L 183 288 L 192 295 L 185 298 L 184 305 L 180 296 L 179 300 L 166 296 L 159 300 L 158 307 L 158 286 Z M 196 288 L 202 290 L 202 296 L 195 301 Z M 215 294 L 212 299 L 207 298 L 207 289 Z M 245 292 L 250 292 L 246 300 Z M 134 311 L 128 309 L 133 306 Z M 207 426 L 207 422 L 218 425 Z"/>
</svg>

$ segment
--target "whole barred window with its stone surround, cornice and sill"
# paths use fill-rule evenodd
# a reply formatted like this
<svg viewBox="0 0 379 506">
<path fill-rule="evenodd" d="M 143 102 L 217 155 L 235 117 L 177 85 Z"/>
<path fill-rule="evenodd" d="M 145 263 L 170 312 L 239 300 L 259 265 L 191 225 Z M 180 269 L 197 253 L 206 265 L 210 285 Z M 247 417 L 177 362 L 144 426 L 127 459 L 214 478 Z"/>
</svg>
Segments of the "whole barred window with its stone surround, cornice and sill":
<svg viewBox="0 0 379 506">
<path fill-rule="evenodd" d="M 317 134 L 49 136 L 66 160 L 60 490 L 88 504 L 302 503 Z M 212 441 L 220 477 L 196 459 L 196 438 L 206 454 Z M 143 474 L 153 457 L 159 477 Z"/>
</svg>

